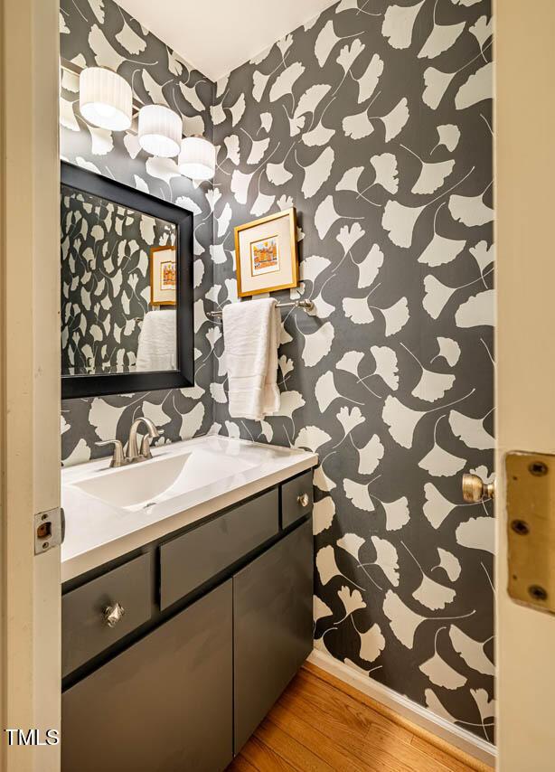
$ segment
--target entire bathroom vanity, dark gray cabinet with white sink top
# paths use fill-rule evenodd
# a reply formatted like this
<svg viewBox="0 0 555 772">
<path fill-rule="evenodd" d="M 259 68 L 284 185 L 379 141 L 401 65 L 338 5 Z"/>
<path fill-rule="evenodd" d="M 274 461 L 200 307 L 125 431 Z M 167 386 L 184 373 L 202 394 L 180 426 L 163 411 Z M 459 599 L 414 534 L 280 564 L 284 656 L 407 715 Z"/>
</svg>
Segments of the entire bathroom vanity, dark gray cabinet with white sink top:
<svg viewBox="0 0 555 772">
<path fill-rule="evenodd" d="M 199 438 L 63 471 L 64 772 L 240 751 L 312 649 L 316 461 Z"/>
</svg>

